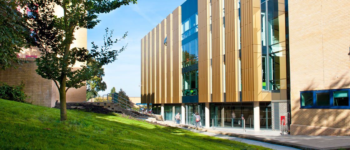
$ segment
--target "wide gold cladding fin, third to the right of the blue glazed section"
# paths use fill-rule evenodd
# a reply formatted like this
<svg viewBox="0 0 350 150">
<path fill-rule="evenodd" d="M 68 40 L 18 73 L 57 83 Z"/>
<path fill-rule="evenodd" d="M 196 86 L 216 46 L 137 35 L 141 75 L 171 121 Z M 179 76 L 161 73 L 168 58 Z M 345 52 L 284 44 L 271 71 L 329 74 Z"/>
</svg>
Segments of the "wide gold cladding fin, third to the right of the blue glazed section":
<svg viewBox="0 0 350 150">
<path fill-rule="evenodd" d="M 237 0 L 225 0 L 225 76 L 226 102 L 238 99 L 238 9 Z"/>
</svg>

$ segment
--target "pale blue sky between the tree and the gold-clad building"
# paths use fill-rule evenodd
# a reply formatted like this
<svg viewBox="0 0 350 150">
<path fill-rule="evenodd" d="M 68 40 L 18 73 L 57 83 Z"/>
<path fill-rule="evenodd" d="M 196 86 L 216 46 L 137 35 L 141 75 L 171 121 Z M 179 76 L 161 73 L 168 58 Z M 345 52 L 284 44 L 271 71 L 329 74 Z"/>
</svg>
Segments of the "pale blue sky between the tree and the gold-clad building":
<svg viewBox="0 0 350 150">
<path fill-rule="evenodd" d="M 105 29 L 113 31 L 112 39 L 127 37 L 114 44 L 112 49 L 119 50 L 127 44 L 125 51 L 119 53 L 117 60 L 103 66 L 107 84 L 106 91 L 98 92 L 101 96 L 116 87 L 122 88 L 129 97 L 140 97 L 141 94 L 141 38 L 165 19 L 173 10 L 186 0 L 138 0 L 138 4 L 121 6 L 107 14 L 99 14 L 101 22 L 93 29 L 87 30 L 87 47 L 91 42 L 102 45 Z"/>
</svg>

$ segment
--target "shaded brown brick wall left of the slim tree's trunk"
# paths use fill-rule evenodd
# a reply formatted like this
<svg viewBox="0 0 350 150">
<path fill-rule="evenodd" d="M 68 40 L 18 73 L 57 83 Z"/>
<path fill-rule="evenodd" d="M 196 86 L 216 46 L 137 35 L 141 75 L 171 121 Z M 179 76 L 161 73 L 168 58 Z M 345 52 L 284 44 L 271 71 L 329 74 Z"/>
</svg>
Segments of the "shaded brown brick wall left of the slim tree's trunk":
<svg viewBox="0 0 350 150">
<path fill-rule="evenodd" d="M 18 85 L 21 81 L 25 84 L 25 93 L 30 96 L 26 99 L 34 105 L 53 107 L 55 105 L 56 92 L 52 80 L 44 79 L 36 74 L 37 68 L 33 58 L 27 58 L 29 63 L 24 63 L 18 69 L 9 68 L 0 70 L 0 81 L 9 85 Z"/>
</svg>

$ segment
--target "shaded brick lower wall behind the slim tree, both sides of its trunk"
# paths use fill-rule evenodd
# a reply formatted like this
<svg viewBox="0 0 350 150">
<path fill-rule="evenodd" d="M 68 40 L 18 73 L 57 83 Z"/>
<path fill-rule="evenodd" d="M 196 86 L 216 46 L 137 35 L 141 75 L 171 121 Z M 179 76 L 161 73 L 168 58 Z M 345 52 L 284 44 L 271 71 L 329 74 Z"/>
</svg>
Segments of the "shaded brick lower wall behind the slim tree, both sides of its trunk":
<svg viewBox="0 0 350 150">
<path fill-rule="evenodd" d="M 34 105 L 54 107 L 59 101 L 59 93 L 56 84 L 52 80 L 44 79 L 36 73 L 37 66 L 34 58 L 21 58 L 28 63 L 17 65 L 18 69 L 9 68 L 0 71 L 0 81 L 9 85 L 18 85 L 21 81 L 25 84 L 25 93 L 30 96 L 26 99 Z M 71 88 L 66 93 L 67 102 L 86 101 L 86 85 L 78 89 Z"/>
</svg>

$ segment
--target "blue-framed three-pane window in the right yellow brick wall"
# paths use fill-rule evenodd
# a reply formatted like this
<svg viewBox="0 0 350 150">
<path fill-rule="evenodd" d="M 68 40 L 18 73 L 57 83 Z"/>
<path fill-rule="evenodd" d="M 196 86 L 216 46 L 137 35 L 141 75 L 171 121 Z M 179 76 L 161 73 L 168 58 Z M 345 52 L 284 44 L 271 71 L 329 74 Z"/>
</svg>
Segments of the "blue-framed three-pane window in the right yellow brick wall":
<svg viewBox="0 0 350 150">
<path fill-rule="evenodd" d="M 350 89 L 319 90 L 300 92 L 301 108 L 344 108 L 349 107 Z"/>
</svg>

